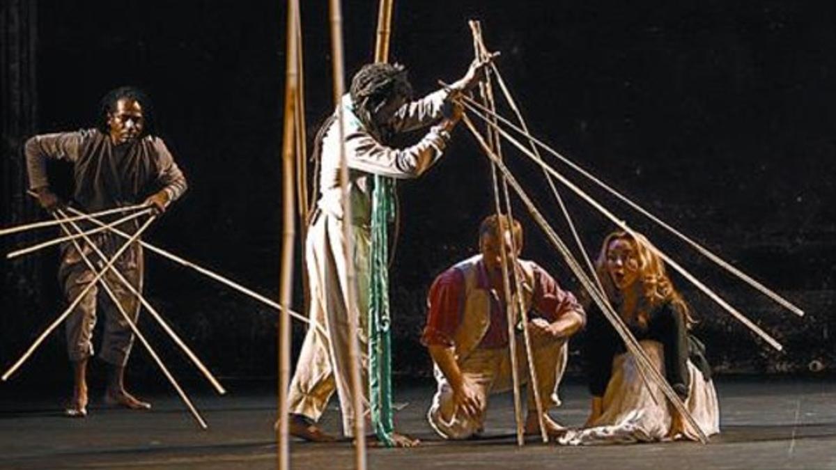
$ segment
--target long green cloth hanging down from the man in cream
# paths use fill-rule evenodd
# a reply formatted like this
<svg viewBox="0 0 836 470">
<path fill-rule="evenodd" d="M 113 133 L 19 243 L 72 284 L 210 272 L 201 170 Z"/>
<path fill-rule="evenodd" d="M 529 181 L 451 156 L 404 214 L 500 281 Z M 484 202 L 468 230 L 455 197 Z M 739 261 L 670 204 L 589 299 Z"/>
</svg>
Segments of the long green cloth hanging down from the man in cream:
<svg viewBox="0 0 836 470">
<path fill-rule="evenodd" d="M 375 176 L 371 212 L 371 279 L 369 296 L 369 406 L 375 435 L 393 447 L 392 356 L 389 310 L 389 237 L 395 218 L 395 181 Z"/>
</svg>

